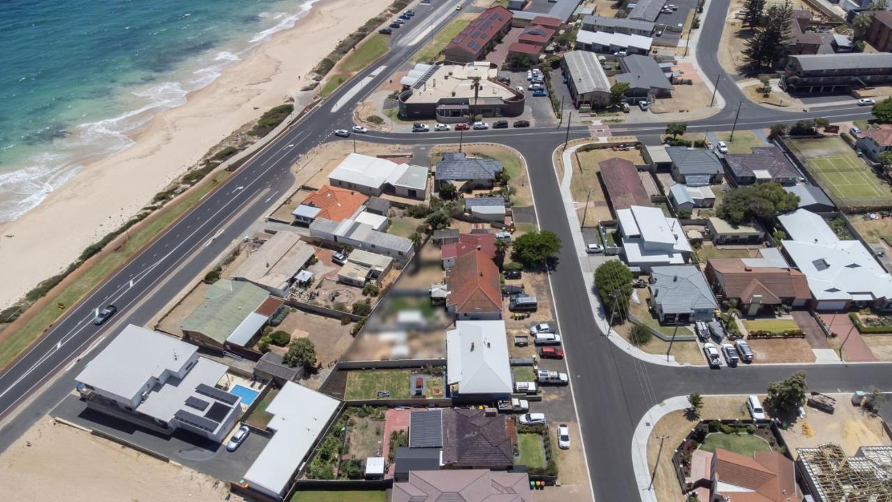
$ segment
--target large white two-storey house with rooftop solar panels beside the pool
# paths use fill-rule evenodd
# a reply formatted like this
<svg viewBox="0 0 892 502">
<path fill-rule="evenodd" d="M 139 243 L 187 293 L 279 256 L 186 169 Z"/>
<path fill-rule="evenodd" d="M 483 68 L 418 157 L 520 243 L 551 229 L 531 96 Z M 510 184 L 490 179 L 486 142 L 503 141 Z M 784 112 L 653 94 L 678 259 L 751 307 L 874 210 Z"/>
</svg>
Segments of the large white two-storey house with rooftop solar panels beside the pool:
<svg viewBox="0 0 892 502">
<path fill-rule="evenodd" d="M 242 398 L 217 385 L 227 366 L 198 347 L 128 324 L 75 377 L 87 406 L 164 435 L 188 431 L 219 443 L 242 415 Z"/>
</svg>

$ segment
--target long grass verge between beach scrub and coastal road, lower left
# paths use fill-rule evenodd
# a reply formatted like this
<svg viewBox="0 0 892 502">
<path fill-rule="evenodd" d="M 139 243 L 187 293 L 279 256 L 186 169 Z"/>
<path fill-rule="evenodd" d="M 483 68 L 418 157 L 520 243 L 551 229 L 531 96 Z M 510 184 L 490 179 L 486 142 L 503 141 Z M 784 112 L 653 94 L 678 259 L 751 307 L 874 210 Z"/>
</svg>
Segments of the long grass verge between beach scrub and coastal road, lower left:
<svg viewBox="0 0 892 502">
<path fill-rule="evenodd" d="M 127 263 L 142 247 L 151 242 L 162 230 L 166 229 L 170 223 L 176 222 L 180 216 L 198 204 L 202 197 L 208 195 L 213 188 L 216 188 L 219 183 L 226 180 L 230 174 L 232 173 L 228 171 L 219 172 L 211 182 L 203 182 L 202 185 L 186 197 L 180 197 L 168 203 L 158 213 L 150 216 L 138 230 L 131 230 L 130 238 L 128 238 L 127 243 L 120 251 L 103 255 L 83 272 L 75 272 L 80 274 L 77 279 L 71 280 L 65 289 L 62 289 L 58 295 L 52 297 L 43 309 L 34 313 L 28 322 L 25 322 L 19 330 L 12 332 L 9 338 L 0 345 L 0 367 L 12 361 L 32 341 L 37 339 L 51 323 L 65 313 L 64 310 L 59 310 L 56 307 L 57 304 L 65 305 L 68 308 L 71 305 L 75 305 L 80 298 L 84 297 L 96 285 L 105 280 L 111 272 L 117 270 L 122 264 Z"/>
</svg>

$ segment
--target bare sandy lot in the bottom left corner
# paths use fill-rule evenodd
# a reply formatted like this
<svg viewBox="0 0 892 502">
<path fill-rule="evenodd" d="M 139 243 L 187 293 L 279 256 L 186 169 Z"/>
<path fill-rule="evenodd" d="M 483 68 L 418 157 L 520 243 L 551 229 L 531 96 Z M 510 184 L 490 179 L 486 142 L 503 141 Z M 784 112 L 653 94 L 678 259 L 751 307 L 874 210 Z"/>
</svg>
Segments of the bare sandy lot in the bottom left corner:
<svg viewBox="0 0 892 502">
<path fill-rule="evenodd" d="M 19 500 L 216 502 L 228 494 L 226 484 L 210 476 L 49 418 L 4 452 L 0 483 L 4 499 Z"/>
</svg>

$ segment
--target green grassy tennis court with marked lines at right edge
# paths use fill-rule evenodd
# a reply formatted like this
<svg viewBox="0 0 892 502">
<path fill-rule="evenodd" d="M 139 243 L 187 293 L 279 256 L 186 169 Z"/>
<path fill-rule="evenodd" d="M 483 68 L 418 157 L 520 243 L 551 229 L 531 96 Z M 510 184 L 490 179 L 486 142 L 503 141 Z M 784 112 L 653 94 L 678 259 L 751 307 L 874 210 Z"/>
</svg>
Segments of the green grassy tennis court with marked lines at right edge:
<svg viewBox="0 0 892 502">
<path fill-rule="evenodd" d="M 892 204 L 892 192 L 842 138 L 789 139 L 787 145 L 805 161 L 839 205 L 848 207 Z"/>
</svg>

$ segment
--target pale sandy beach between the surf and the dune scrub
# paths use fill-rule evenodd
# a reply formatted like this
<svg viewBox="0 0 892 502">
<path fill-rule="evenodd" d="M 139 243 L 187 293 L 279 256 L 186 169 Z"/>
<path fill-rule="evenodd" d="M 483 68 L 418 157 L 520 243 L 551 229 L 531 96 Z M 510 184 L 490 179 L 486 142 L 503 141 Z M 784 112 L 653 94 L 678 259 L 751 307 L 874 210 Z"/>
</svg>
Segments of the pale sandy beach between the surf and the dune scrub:
<svg viewBox="0 0 892 502">
<path fill-rule="evenodd" d="M 318 61 L 390 3 L 321 0 L 186 105 L 156 116 L 135 145 L 87 165 L 35 209 L 0 224 L 0 308 L 61 272 L 234 130 L 293 96 Z"/>
</svg>

